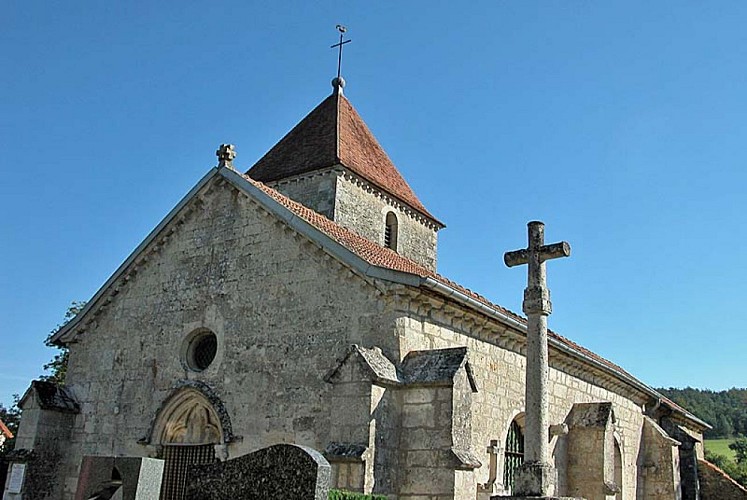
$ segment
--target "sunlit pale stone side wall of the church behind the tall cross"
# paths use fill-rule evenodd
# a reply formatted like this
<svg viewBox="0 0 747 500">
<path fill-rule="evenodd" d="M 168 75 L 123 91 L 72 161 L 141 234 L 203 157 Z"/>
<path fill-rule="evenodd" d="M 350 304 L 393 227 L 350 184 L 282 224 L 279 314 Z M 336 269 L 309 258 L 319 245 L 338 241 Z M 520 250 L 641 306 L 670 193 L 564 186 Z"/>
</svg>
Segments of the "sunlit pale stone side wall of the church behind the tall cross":
<svg viewBox="0 0 747 500">
<path fill-rule="evenodd" d="M 483 463 L 489 463 L 487 447 L 498 440 L 501 448 L 512 420 L 524 408 L 523 337 L 505 326 L 472 316 L 440 298 L 403 294 L 396 305 L 399 311 L 397 334 L 400 356 L 412 350 L 441 349 L 467 346 L 469 359 L 479 390 L 473 395 L 472 451 Z M 605 387 L 607 386 L 607 387 Z M 553 424 L 565 421 L 574 403 L 609 401 L 617 418 L 622 455 L 622 500 L 636 498 L 637 457 L 640 451 L 643 415 L 642 401 L 626 393 L 624 387 L 610 388 L 599 374 L 588 366 L 573 364 L 557 352 L 550 353 L 549 403 Z M 558 469 L 563 494 L 567 488 L 566 440 L 554 437 L 551 452 Z M 505 493 L 503 460 L 499 460 L 494 493 Z M 601 464 L 600 464 L 601 466 Z M 477 491 L 477 484 L 488 481 L 489 468 L 483 466 L 473 472 L 463 471 L 461 479 L 467 489 Z"/>
</svg>

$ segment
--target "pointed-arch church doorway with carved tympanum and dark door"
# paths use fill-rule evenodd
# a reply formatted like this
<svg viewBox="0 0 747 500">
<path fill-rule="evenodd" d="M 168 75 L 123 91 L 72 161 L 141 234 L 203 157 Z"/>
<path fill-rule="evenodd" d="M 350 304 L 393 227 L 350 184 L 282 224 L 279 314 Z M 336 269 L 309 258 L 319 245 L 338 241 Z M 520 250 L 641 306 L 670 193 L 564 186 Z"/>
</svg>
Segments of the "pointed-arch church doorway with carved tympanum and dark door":
<svg viewBox="0 0 747 500">
<path fill-rule="evenodd" d="M 200 391 L 186 388 L 172 395 L 152 433 L 164 460 L 161 500 L 182 500 L 189 466 L 215 462 L 215 445 L 223 441 L 218 414 Z"/>
</svg>

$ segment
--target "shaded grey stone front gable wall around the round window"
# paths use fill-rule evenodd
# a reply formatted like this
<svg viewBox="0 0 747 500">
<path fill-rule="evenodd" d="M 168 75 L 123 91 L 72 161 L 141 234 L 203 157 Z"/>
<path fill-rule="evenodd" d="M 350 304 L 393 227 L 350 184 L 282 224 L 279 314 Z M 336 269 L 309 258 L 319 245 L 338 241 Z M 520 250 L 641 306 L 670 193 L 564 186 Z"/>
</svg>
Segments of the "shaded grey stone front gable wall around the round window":
<svg viewBox="0 0 747 500">
<path fill-rule="evenodd" d="M 200 380 L 224 403 L 239 437 L 229 457 L 283 442 L 324 449 L 334 408 L 323 376 L 336 357 L 353 343 L 396 352 L 375 287 L 234 188 L 210 187 L 174 224 L 71 345 L 82 411 L 64 461 L 67 498 L 83 455 L 156 452 L 140 441 L 179 381 Z M 183 359 L 197 329 L 218 339 L 202 372 Z"/>
</svg>

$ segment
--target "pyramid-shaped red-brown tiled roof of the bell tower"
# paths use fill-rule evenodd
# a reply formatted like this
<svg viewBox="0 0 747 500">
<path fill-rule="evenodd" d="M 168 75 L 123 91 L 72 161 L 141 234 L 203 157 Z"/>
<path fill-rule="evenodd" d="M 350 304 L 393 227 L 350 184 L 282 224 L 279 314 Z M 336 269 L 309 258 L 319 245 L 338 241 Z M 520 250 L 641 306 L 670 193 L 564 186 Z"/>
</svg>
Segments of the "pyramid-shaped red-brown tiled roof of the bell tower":
<svg viewBox="0 0 747 500">
<path fill-rule="evenodd" d="M 261 182 L 343 165 L 437 222 L 394 166 L 350 101 L 335 91 L 247 171 Z"/>
</svg>

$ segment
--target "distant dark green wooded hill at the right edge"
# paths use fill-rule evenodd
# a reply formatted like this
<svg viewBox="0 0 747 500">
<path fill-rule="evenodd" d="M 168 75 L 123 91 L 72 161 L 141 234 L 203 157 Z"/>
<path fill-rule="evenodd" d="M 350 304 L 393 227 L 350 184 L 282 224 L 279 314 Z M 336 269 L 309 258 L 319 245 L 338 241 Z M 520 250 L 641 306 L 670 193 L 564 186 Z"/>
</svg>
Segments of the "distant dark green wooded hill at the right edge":
<svg viewBox="0 0 747 500">
<path fill-rule="evenodd" d="M 713 426 L 706 439 L 747 436 L 747 389 L 656 389 Z"/>
</svg>

